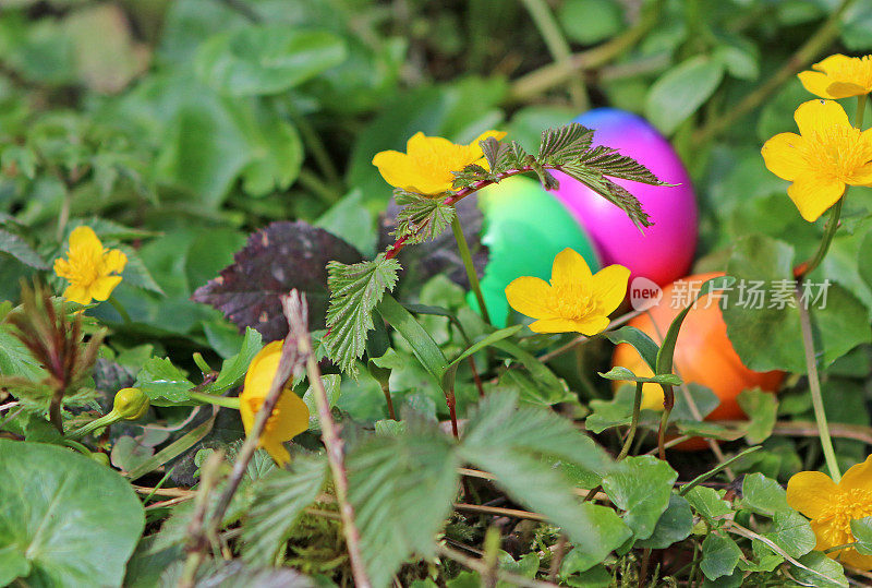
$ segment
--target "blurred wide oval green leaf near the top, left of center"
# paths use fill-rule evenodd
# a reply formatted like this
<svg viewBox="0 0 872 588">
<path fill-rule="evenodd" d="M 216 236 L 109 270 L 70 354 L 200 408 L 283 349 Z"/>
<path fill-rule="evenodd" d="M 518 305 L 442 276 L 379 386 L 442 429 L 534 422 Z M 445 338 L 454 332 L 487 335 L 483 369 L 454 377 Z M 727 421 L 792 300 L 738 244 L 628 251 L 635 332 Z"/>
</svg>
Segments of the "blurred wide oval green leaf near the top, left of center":
<svg viewBox="0 0 872 588">
<path fill-rule="evenodd" d="M 216 35 L 199 49 L 197 74 L 231 96 L 278 94 L 346 59 L 339 37 L 287 24 L 252 25 Z"/>
</svg>

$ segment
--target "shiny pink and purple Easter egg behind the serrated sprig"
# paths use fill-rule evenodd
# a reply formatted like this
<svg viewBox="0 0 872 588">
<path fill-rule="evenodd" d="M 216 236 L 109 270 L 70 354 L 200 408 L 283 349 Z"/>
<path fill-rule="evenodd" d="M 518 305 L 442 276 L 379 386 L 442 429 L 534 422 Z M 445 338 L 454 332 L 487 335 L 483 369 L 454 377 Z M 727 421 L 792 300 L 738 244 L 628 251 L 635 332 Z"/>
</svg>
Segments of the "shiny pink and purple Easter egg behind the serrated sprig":
<svg viewBox="0 0 872 588">
<path fill-rule="evenodd" d="M 653 226 L 640 229 L 606 199 L 560 172 L 557 197 L 584 226 L 603 265 L 630 269 L 664 286 L 685 276 L 697 248 L 697 202 L 690 177 L 673 146 L 643 118 L 615 108 L 596 108 L 574 119 L 593 129 L 594 145 L 606 145 L 647 167 L 676 187 L 610 178 L 639 199 Z"/>
</svg>

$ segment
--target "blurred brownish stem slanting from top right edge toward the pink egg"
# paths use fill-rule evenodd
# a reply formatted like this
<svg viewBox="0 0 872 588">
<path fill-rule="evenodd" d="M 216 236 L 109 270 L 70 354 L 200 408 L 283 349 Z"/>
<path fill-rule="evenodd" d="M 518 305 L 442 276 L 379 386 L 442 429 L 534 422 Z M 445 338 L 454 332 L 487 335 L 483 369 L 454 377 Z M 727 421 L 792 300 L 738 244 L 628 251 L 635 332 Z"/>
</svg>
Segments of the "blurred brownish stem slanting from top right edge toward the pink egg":
<svg viewBox="0 0 872 588">
<path fill-rule="evenodd" d="M 821 51 L 823 51 L 839 34 L 839 20 L 845 13 L 845 10 L 850 7 L 855 0 L 841 0 L 841 3 L 829 14 L 829 17 L 821 25 L 821 27 L 809 37 L 809 39 L 790 56 L 780 70 L 772 75 L 765 83 L 747 95 L 739 101 L 732 109 L 723 113 L 719 117 L 712 119 L 702 129 L 699 129 L 693 135 L 693 142 L 698 145 L 704 143 L 722 131 L 731 127 L 739 119 L 751 112 L 758 106 L 775 93 L 782 85 L 792 77 L 801 69 L 806 68 L 814 60 Z"/>
</svg>

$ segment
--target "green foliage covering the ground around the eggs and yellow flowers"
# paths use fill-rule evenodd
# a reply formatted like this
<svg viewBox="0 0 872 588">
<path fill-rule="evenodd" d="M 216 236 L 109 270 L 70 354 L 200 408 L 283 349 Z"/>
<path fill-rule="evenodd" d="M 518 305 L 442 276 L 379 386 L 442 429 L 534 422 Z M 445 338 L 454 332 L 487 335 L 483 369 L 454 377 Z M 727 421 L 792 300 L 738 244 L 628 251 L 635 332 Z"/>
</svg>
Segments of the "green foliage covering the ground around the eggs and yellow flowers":
<svg viewBox="0 0 872 588">
<path fill-rule="evenodd" d="M 786 487 L 872 492 L 872 191 L 833 235 L 761 156 L 839 52 L 872 52 L 872 1 L 2 2 L 0 585 L 869 584 L 872 502 L 825 553 Z M 748 419 L 704 420 L 717 395 L 674 373 L 683 314 L 658 344 L 623 310 L 590 337 L 473 310 L 484 185 L 560 171 L 651 224 L 623 180 L 664 182 L 570 124 L 592 106 L 690 171 L 693 272 L 727 274 L 700 296 L 828 280 L 804 313 L 724 308 L 741 360 L 787 374 Z M 481 158 L 392 190 L 373 157 L 416 132 Z M 74 251 L 111 297 L 70 300 Z M 650 384 L 669 411 L 639 409 Z"/>
</svg>

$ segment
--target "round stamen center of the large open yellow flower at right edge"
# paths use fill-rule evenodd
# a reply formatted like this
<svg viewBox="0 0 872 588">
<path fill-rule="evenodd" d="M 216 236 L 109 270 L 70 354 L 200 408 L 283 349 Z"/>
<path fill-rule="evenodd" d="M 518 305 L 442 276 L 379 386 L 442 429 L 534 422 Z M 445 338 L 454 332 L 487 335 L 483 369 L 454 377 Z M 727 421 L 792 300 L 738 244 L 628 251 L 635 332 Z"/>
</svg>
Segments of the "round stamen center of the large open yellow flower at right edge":
<svg viewBox="0 0 872 588">
<path fill-rule="evenodd" d="M 831 127 L 808 137 L 802 156 L 827 179 L 847 183 L 859 168 L 872 160 L 872 144 L 863 140 L 859 129 Z"/>
</svg>

